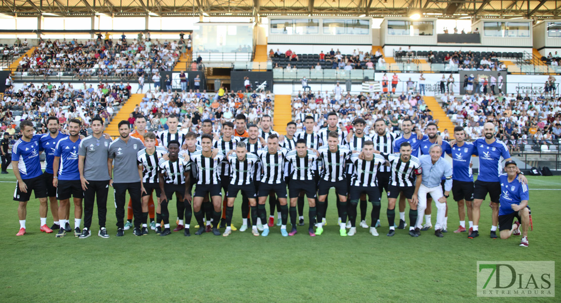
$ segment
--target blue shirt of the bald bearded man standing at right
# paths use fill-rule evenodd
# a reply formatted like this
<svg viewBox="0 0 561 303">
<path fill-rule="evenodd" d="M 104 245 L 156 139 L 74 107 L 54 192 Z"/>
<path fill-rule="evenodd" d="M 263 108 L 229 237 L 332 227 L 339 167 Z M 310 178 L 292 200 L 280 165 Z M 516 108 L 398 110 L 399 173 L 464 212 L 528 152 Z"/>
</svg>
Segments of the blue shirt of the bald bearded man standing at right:
<svg viewBox="0 0 561 303">
<path fill-rule="evenodd" d="M 500 158 L 509 159 L 511 157 L 507 145 L 497 139 L 495 139 L 495 142 L 488 144 L 485 142 L 485 138 L 477 139 L 473 142 L 473 145 L 477 148 L 477 154 L 479 155 L 479 175 L 477 180 L 498 182 L 499 174 L 502 171 Z"/>
</svg>

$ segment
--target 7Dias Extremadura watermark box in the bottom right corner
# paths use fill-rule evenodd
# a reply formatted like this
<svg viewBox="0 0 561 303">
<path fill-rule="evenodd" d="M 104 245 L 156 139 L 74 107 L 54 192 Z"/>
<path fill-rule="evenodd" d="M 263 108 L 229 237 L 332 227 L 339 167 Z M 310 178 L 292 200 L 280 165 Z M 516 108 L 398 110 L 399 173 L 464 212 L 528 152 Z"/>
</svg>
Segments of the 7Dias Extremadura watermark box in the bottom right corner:
<svg viewBox="0 0 561 303">
<path fill-rule="evenodd" d="M 555 297 L 553 261 L 478 261 L 478 297 Z"/>
</svg>

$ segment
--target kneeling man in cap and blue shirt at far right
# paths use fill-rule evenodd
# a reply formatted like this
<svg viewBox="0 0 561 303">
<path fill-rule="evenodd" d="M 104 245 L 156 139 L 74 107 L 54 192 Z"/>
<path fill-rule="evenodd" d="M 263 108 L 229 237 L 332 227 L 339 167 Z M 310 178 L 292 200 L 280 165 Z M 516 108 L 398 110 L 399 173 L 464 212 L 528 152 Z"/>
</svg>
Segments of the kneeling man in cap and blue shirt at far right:
<svg viewBox="0 0 561 303">
<path fill-rule="evenodd" d="M 517 178 L 518 167 L 516 162 L 512 160 L 505 162 L 504 170 L 507 173 L 499 176 L 502 190 L 499 209 L 500 239 L 508 239 L 511 235 L 520 235 L 518 228 L 522 222 L 520 246 L 528 247 L 528 227 L 530 227 L 528 185 Z M 512 224 L 514 217 L 518 218 L 518 221 Z"/>
</svg>

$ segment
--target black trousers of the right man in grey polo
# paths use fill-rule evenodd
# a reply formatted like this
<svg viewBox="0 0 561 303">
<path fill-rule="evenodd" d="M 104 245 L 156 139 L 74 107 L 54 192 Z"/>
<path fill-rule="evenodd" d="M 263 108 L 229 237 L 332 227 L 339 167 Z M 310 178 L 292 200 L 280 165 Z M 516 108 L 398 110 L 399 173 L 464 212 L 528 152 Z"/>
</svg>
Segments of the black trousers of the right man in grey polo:
<svg viewBox="0 0 561 303">
<path fill-rule="evenodd" d="M 115 216 L 117 217 L 117 228 L 122 229 L 125 220 L 125 198 L 131 197 L 132 215 L 134 216 L 135 228 L 140 229 L 142 224 L 142 204 L 140 203 L 140 181 L 133 183 L 113 183 L 113 193 L 115 195 Z"/>
</svg>

